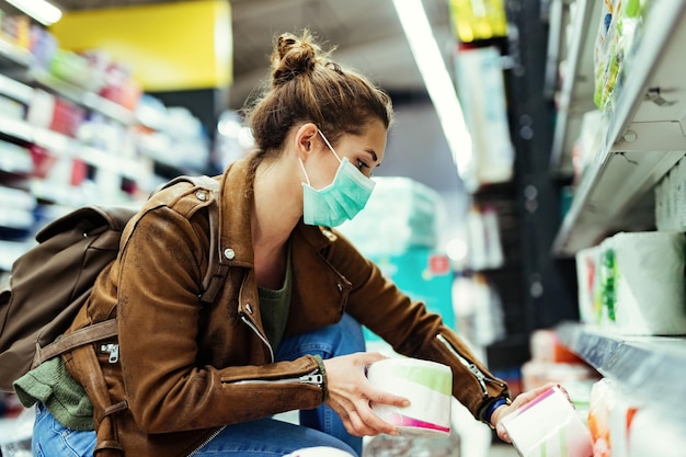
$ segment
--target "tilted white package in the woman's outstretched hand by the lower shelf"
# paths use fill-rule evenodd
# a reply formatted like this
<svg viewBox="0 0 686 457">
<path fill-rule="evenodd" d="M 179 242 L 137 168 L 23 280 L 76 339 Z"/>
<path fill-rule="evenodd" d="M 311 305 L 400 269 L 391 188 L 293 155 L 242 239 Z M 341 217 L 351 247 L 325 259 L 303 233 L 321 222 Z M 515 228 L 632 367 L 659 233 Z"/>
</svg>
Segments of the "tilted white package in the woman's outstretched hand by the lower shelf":
<svg viewBox="0 0 686 457">
<path fill-rule="evenodd" d="M 521 457 L 592 457 L 591 433 L 559 387 L 501 421 Z"/>
</svg>

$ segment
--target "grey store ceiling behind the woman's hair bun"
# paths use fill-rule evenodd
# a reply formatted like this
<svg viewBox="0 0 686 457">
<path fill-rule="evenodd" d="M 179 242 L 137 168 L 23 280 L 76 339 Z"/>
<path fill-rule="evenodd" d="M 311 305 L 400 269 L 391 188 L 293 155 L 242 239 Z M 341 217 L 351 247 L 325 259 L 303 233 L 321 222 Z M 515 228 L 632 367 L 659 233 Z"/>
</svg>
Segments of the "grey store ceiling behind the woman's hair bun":
<svg viewBox="0 0 686 457">
<path fill-rule="evenodd" d="M 52 0 L 66 11 L 172 3 L 174 0 Z M 187 0 L 186 0 L 187 1 Z M 267 76 L 273 38 L 309 28 L 334 59 L 356 68 L 391 93 L 423 93 L 424 84 L 391 0 L 230 0 L 233 84 L 238 108 Z M 454 38 L 446 0 L 423 0 L 446 59 Z"/>
</svg>

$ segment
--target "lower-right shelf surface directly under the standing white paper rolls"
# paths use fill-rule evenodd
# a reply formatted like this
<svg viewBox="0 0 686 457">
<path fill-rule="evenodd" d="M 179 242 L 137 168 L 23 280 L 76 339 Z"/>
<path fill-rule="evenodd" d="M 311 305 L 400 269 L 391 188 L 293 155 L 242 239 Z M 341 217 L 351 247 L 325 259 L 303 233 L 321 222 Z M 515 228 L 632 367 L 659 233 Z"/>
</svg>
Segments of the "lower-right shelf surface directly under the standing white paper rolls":
<svg viewBox="0 0 686 457">
<path fill-rule="evenodd" d="M 562 344 L 632 397 L 671 410 L 674 399 L 685 398 L 686 338 L 607 335 L 578 323 L 557 332 Z"/>
</svg>

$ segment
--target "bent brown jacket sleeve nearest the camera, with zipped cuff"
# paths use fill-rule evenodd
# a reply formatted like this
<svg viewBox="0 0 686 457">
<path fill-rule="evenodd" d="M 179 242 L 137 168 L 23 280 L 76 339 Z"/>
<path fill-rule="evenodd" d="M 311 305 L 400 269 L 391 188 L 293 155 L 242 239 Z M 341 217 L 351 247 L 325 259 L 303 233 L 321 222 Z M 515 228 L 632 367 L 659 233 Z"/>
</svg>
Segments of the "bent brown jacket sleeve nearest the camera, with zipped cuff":
<svg viewBox="0 0 686 457">
<path fill-rule="evenodd" d="M 301 381 L 320 374 L 315 357 L 226 367 L 198 362 L 210 358 L 198 345 L 206 338 L 198 335 L 198 292 L 208 242 L 195 226 L 168 207 L 147 212 L 116 273 L 122 378 L 138 426 L 206 429 L 319 405 L 323 386 Z M 238 331 L 228 322 L 227 332 Z"/>
</svg>

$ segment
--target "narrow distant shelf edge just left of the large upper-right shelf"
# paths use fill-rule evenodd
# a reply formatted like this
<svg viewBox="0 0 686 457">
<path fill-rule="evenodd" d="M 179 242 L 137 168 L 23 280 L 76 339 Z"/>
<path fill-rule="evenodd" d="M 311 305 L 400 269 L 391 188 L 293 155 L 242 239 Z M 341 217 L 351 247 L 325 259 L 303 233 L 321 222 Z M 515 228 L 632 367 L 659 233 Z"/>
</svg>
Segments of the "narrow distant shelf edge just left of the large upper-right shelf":
<svg viewBox="0 0 686 457">
<path fill-rule="evenodd" d="M 560 2 L 561 0 L 558 0 Z M 584 113 L 594 110 L 593 52 L 602 12 L 602 1 L 578 0 L 572 19 L 571 43 L 560 94 L 558 118 L 552 139 L 550 165 L 553 174 L 571 176 L 572 147 L 581 132 Z M 563 5 L 560 8 L 564 8 Z M 563 19 L 562 19 L 563 20 Z M 552 34 L 553 32 L 551 32 Z M 561 36 L 564 30 L 558 31 Z M 561 38 L 557 38 L 560 41 Z"/>
</svg>

